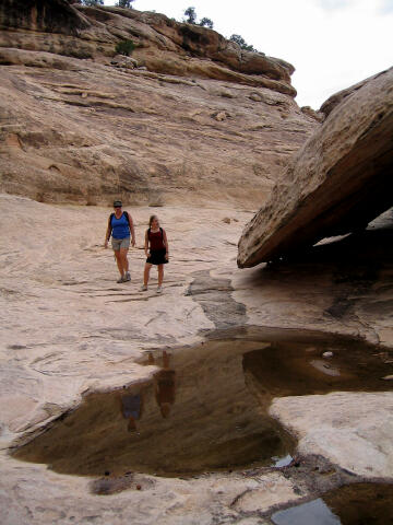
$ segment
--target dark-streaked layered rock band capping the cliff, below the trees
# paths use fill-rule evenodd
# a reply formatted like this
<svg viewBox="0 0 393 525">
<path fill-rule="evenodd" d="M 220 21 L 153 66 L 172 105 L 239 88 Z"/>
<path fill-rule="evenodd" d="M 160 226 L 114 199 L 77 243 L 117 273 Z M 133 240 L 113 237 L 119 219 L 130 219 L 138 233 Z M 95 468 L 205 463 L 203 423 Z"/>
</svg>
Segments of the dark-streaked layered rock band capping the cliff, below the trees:
<svg viewBox="0 0 393 525">
<path fill-rule="evenodd" d="M 115 44 L 132 37 L 135 57 L 142 57 L 152 71 L 238 80 L 296 95 L 290 85 L 295 70 L 290 63 L 242 50 L 213 30 L 179 23 L 163 14 L 70 5 L 66 0 L 5 0 L 0 8 L 0 20 L 2 27 L 12 31 L 1 35 L 4 47 L 28 49 L 34 40 L 31 48 L 35 50 L 98 58 L 114 56 Z"/>
</svg>

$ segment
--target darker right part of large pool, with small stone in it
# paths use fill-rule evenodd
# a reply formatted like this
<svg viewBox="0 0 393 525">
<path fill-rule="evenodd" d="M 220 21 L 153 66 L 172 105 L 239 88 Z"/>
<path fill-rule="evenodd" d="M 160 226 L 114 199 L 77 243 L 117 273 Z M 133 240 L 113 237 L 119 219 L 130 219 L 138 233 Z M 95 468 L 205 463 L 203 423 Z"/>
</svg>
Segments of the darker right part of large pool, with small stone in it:
<svg viewBox="0 0 393 525">
<path fill-rule="evenodd" d="M 324 353 L 329 358 L 323 358 Z M 274 341 L 269 350 L 245 353 L 243 370 L 262 401 L 267 394 L 271 397 L 305 396 L 333 390 L 381 392 L 393 387 L 381 381 L 393 370 L 389 352 L 377 353 L 370 345 L 347 338 L 314 345 Z"/>
</svg>

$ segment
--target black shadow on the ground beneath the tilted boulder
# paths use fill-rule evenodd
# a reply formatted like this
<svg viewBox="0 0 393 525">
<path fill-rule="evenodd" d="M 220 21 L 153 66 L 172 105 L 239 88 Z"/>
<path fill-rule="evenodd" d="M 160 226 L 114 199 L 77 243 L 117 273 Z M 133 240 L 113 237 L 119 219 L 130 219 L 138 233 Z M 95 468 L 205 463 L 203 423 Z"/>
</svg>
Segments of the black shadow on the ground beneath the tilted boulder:
<svg viewBox="0 0 393 525">
<path fill-rule="evenodd" d="M 257 276 L 259 281 L 285 281 L 288 285 L 315 282 L 315 288 L 330 279 L 334 300 L 325 314 L 342 319 L 358 299 L 377 294 L 377 287 L 392 289 L 392 269 L 393 210 L 389 210 L 361 232 L 291 253 L 265 265 Z M 392 311 L 393 301 L 381 296 L 380 307 Z"/>
</svg>

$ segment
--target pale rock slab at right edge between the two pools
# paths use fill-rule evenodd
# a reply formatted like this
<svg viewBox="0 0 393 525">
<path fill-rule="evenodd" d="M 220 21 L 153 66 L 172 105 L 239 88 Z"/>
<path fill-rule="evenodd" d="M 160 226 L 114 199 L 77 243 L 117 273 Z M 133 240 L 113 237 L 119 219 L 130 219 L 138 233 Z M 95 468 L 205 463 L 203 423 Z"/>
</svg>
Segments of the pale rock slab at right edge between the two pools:
<svg viewBox="0 0 393 525">
<path fill-rule="evenodd" d="M 326 411 L 321 410 L 322 405 L 327 407 Z M 371 412 L 374 416 L 370 418 Z M 350 472 L 365 477 L 392 476 L 391 393 L 333 393 L 275 399 L 271 413 L 278 419 L 290 420 L 290 428 L 300 434 L 299 451 L 322 454 L 332 463 L 338 463 Z M 357 422 L 354 427 L 355 413 Z"/>
</svg>

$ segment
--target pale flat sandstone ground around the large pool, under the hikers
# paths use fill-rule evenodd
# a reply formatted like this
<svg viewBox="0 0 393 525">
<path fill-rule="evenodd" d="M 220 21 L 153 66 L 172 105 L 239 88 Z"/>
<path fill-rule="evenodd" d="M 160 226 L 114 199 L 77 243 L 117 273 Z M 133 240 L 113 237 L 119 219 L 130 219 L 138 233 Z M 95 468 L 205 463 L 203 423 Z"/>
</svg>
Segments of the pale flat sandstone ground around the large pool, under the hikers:
<svg viewBox="0 0 393 525">
<path fill-rule="evenodd" d="M 171 261 L 157 296 L 155 272 L 151 291 L 139 291 L 152 208 L 129 209 L 138 247 L 130 253 L 132 281 L 124 285 L 115 283 L 112 255 L 102 248 L 108 209 L 2 195 L 0 211 L 2 524 L 261 524 L 279 505 L 314 493 L 314 481 L 307 481 L 318 474 L 311 459 L 302 478 L 269 469 L 190 479 L 109 477 L 114 493 L 98 497 L 91 493 L 91 478 L 19 462 L 8 451 L 14 440 L 79 406 L 83 393 L 151 376 L 156 368 L 139 364 L 146 352 L 179 346 L 187 352 L 203 340 L 203 330 L 305 328 L 361 336 L 381 343 L 381 352 L 392 348 L 391 214 L 353 240 L 313 248 L 296 264 L 239 270 L 236 240 L 250 212 L 229 205 L 198 213 L 163 207 Z M 23 225 L 23 235 L 15 224 Z M 391 382 L 382 383 L 390 389 Z M 392 393 L 336 393 L 276 399 L 271 412 L 299 436 L 302 455 L 332 462 L 319 467 L 321 483 L 343 482 L 340 466 L 356 476 L 393 477 L 391 402 Z M 356 442 L 352 456 L 349 438 Z"/>
</svg>

